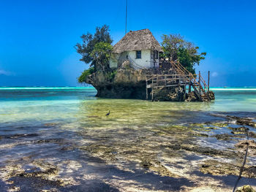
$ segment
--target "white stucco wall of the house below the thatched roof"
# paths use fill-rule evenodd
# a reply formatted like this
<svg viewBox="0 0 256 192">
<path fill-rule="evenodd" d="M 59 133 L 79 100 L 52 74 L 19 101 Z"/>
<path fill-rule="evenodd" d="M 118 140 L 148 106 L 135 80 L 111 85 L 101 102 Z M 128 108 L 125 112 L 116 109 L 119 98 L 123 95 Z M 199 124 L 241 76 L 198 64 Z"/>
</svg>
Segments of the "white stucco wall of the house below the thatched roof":
<svg viewBox="0 0 256 192">
<path fill-rule="evenodd" d="M 126 58 L 126 55 L 128 55 L 128 58 L 133 66 L 135 66 L 135 69 L 154 67 L 154 62 L 156 67 L 159 66 L 159 60 L 151 58 L 151 50 L 141 50 L 141 58 L 136 58 L 136 51 L 128 51 L 127 53 L 113 55 L 113 57 L 110 58 L 110 68 L 113 69 L 120 65 Z"/>
</svg>

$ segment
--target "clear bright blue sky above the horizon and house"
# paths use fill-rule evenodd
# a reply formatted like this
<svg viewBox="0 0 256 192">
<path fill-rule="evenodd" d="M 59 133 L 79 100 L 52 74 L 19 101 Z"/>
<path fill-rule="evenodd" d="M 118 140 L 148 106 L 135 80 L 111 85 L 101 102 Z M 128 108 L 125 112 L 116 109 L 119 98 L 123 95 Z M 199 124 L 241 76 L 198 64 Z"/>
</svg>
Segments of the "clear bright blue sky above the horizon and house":
<svg viewBox="0 0 256 192">
<path fill-rule="evenodd" d="M 79 85 L 80 36 L 108 24 L 115 43 L 124 23 L 125 0 L 1 0 L 0 86 Z M 256 1 L 128 0 L 127 29 L 143 28 L 198 45 L 212 86 L 256 86 Z"/>
</svg>

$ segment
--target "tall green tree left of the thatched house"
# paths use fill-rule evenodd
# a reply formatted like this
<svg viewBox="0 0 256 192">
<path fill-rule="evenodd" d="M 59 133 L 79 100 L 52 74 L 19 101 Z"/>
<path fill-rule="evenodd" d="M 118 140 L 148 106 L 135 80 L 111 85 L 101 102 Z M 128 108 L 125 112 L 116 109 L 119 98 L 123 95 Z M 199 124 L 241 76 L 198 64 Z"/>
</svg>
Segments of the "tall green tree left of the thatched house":
<svg viewBox="0 0 256 192">
<path fill-rule="evenodd" d="M 108 68 L 109 53 L 112 50 L 109 26 L 97 27 L 94 35 L 87 32 L 81 36 L 82 43 L 75 45 L 86 64 L 93 66 L 95 70 L 104 70 Z"/>
</svg>

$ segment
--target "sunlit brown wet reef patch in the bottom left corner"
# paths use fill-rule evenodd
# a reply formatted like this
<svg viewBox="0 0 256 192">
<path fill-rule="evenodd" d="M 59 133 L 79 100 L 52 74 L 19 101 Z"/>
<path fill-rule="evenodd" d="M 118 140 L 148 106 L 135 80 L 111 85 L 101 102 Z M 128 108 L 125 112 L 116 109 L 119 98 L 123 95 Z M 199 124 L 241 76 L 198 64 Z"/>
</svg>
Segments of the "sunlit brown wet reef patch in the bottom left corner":
<svg viewBox="0 0 256 192">
<path fill-rule="evenodd" d="M 59 179 L 59 169 L 41 159 L 29 162 L 29 169 L 22 164 L 9 164 L 0 167 L 0 179 L 10 184 L 9 191 L 19 189 L 20 191 L 41 191 L 45 188 L 59 188 L 66 185 L 65 181 Z M 0 190 L 1 191 L 1 190 Z"/>
</svg>

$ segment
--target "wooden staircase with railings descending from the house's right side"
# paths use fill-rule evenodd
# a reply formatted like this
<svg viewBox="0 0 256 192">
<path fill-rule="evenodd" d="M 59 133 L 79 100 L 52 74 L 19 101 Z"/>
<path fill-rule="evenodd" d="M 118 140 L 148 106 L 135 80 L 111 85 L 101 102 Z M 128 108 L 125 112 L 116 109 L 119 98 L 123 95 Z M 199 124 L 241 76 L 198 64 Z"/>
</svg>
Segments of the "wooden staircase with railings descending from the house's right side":
<svg viewBox="0 0 256 192">
<path fill-rule="evenodd" d="M 176 72 L 176 74 L 187 74 L 189 75 L 189 80 L 187 80 L 189 82 L 190 85 L 192 85 L 192 87 L 194 88 L 195 93 L 197 94 L 198 98 L 203 101 L 203 102 L 207 102 L 207 101 L 211 101 L 211 99 L 208 96 L 207 90 L 208 90 L 208 86 L 206 85 L 205 80 L 203 80 L 203 77 L 200 76 L 198 77 L 198 81 L 195 78 L 195 75 L 193 75 L 191 72 L 189 72 L 184 66 L 182 66 L 179 62 L 171 62 L 171 65 L 173 67 L 174 72 Z M 201 85 L 201 83 L 203 85 Z"/>
</svg>

